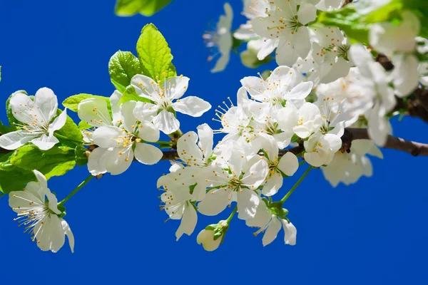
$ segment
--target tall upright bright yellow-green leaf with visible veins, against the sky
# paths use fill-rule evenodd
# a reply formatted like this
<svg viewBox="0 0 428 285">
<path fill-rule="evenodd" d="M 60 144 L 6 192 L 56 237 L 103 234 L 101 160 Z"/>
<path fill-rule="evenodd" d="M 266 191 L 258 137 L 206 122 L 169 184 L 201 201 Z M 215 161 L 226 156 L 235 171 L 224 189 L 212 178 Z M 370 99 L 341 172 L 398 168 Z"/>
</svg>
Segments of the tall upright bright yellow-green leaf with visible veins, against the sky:
<svg viewBox="0 0 428 285">
<path fill-rule="evenodd" d="M 141 36 L 137 42 L 138 59 L 143 64 L 146 76 L 153 79 L 176 76 L 175 66 L 173 66 L 173 55 L 168 47 L 168 43 L 153 24 L 147 24 L 141 30 Z M 165 76 L 163 76 L 165 73 Z"/>
</svg>

